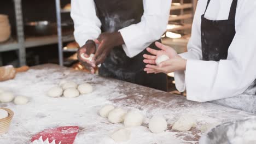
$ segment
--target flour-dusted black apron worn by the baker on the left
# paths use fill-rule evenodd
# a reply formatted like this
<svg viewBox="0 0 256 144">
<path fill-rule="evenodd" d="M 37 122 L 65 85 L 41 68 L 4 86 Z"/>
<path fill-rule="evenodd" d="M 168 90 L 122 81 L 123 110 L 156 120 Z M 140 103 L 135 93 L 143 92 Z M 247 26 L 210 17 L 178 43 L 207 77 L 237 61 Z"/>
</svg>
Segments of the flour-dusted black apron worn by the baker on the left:
<svg viewBox="0 0 256 144">
<path fill-rule="evenodd" d="M 143 0 L 94 0 L 94 2 L 97 16 L 102 23 L 102 32 L 117 32 L 121 28 L 139 23 L 144 12 Z M 154 43 L 149 47 L 158 49 Z M 122 46 L 113 47 L 102 63 L 99 75 L 166 91 L 165 74 L 154 75 L 143 71 L 146 65 L 143 63 L 145 53 L 149 54 L 144 50 L 137 56 L 129 58 Z"/>
</svg>

